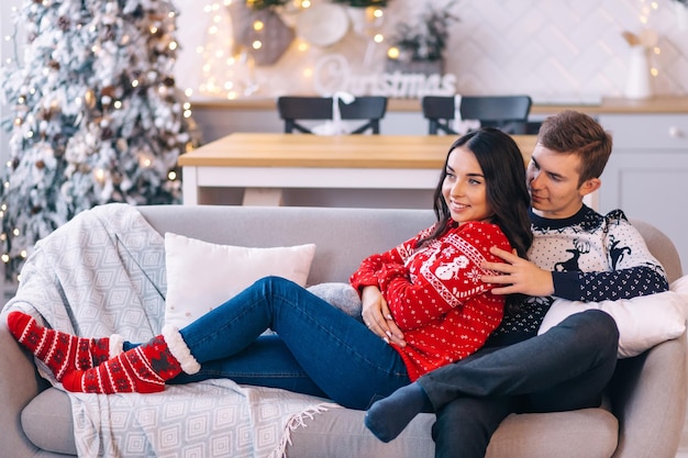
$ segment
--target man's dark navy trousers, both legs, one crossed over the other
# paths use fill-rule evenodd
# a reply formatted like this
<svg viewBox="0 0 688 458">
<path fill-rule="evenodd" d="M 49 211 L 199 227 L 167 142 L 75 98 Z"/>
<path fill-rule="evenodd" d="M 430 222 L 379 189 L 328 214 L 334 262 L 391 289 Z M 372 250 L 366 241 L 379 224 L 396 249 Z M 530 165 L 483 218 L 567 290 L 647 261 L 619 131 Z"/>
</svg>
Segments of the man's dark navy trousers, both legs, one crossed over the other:
<svg viewBox="0 0 688 458">
<path fill-rule="evenodd" d="M 617 366 L 618 344 L 613 319 L 589 310 L 540 336 L 482 348 L 421 377 L 437 415 L 435 457 L 484 458 L 510 413 L 599 406 Z"/>
</svg>

